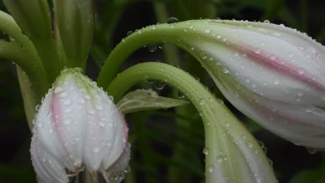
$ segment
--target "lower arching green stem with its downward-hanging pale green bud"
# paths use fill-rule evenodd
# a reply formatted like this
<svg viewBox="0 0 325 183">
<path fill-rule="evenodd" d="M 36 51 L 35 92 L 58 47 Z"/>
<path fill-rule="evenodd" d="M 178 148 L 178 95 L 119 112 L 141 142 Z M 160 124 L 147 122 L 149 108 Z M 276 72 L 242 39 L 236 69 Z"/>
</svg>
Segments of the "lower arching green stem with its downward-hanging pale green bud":
<svg viewBox="0 0 325 183">
<path fill-rule="evenodd" d="M 106 91 L 117 102 L 129 87 L 140 80 L 148 79 L 162 80 L 176 87 L 199 111 L 205 129 L 206 148 L 211 152 L 206 153 L 206 182 L 238 182 L 238 179 L 240 182 L 253 182 L 260 177 L 262 180 L 276 181 L 272 168 L 256 140 L 240 121 L 189 73 L 158 62 L 137 64 L 119 73 Z M 227 160 L 223 161 L 224 157 Z"/>
</svg>

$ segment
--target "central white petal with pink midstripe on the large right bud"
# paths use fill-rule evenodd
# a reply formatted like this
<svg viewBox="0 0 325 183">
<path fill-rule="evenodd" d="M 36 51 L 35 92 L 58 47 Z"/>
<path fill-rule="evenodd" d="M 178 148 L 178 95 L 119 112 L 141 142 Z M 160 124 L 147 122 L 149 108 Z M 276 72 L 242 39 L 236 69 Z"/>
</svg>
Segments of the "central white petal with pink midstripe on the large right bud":
<svg viewBox="0 0 325 183">
<path fill-rule="evenodd" d="M 274 100 L 324 107 L 325 67 L 316 57 L 306 58 L 299 46 L 274 35 L 224 24 L 210 27 L 227 38 L 226 43 L 220 43 L 222 38 L 213 36 L 210 42 L 201 39 L 201 42 L 190 43 L 207 55 L 203 62 L 208 69 L 222 73 L 222 66 L 251 91 Z M 325 53 L 324 46 L 317 42 L 308 44 Z M 291 52 L 294 55 L 290 55 Z M 278 66 L 270 69 L 265 62 L 274 62 Z M 289 76 L 290 71 L 297 76 Z"/>
</svg>

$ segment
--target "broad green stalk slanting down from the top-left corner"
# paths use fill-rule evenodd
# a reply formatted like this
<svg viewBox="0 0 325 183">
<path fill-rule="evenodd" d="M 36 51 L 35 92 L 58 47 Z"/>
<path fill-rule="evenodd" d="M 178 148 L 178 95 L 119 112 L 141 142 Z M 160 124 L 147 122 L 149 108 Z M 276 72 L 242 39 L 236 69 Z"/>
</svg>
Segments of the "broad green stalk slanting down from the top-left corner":
<svg viewBox="0 0 325 183">
<path fill-rule="evenodd" d="M 51 12 L 47 0 L 3 0 L 3 3 L 33 42 L 49 82 L 52 83 L 60 73 L 63 63 L 58 58 L 53 41 Z"/>
</svg>

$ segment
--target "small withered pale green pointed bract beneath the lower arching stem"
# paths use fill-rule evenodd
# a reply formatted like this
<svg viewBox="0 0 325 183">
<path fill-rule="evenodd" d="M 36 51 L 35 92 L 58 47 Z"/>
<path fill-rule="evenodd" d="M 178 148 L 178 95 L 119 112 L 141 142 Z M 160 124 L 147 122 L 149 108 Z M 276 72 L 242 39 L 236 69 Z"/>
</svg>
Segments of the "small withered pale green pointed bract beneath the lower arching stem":
<svg viewBox="0 0 325 183">
<path fill-rule="evenodd" d="M 151 89 L 137 89 L 134 92 L 126 94 L 119 103 L 117 103 L 117 107 L 126 114 L 143 110 L 166 109 L 188 104 L 190 104 L 188 101 L 158 96 L 158 94 Z"/>
</svg>

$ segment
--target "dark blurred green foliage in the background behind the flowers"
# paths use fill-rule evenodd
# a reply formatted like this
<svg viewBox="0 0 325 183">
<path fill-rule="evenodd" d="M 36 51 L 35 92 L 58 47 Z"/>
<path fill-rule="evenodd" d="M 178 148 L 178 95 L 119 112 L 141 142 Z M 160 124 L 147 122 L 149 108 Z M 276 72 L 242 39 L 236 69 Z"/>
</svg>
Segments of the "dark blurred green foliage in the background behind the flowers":
<svg viewBox="0 0 325 183">
<path fill-rule="evenodd" d="M 180 21 L 200 18 L 268 19 L 304 31 L 322 44 L 325 42 L 325 17 L 322 16 L 325 1 L 97 0 L 95 4 L 97 22 L 87 70 L 92 78 L 97 77 L 107 55 L 129 30 L 164 23 L 167 17 L 177 17 Z M 6 11 L 2 3 L 0 9 Z M 5 35 L 0 35 L 0 38 L 7 39 Z M 169 62 L 168 54 L 173 51 L 176 56 L 172 58 L 178 59 L 178 62 L 172 64 L 192 73 L 216 96 L 223 98 L 206 71 L 190 55 L 171 45 L 154 53 L 147 48 L 140 49 L 129 58 L 124 68 L 145 61 Z M 28 151 L 31 134 L 24 117 L 15 66 L 10 62 L 0 63 L 0 88 L 0 182 L 35 182 Z M 168 86 L 157 89 L 154 82 L 142 82 L 135 88 L 151 88 L 163 96 L 185 100 Z M 306 148 L 279 139 L 247 119 L 230 103 L 225 103 L 256 139 L 264 142 L 280 182 L 325 182 L 324 153 L 311 155 Z M 203 125 L 192 106 L 136 112 L 126 118 L 133 153 L 131 173 L 124 182 L 204 182 Z"/>
</svg>

